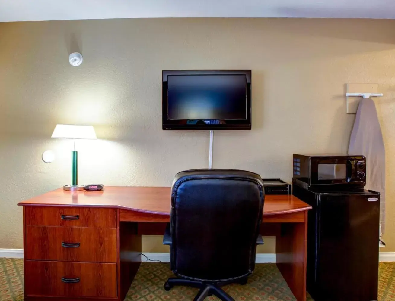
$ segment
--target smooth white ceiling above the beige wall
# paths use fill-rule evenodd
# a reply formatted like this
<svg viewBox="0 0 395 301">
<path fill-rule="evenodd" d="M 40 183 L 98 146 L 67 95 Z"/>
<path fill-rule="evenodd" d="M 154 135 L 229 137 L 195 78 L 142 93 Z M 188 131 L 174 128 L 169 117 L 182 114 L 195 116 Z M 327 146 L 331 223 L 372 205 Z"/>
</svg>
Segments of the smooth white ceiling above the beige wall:
<svg viewBox="0 0 395 301">
<path fill-rule="evenodd" d="M 0 22 L 160 17 L 395 19 L 395 0 L 0 0 Z"/>
</svg>

